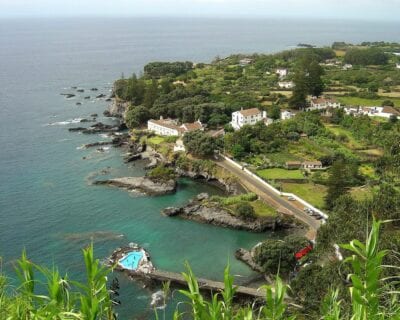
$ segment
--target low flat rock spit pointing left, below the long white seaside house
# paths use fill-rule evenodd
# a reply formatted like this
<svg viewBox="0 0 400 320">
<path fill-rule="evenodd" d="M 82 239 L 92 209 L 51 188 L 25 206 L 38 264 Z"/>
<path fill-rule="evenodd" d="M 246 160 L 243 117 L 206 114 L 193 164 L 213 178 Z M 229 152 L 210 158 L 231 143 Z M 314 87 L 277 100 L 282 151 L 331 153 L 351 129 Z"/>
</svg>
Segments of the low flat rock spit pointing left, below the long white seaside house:
<svg viewBox="0 0 400 320">
<path fill-rule="evenodd" d="M 176 191 L 176 181 L 153 181 L 147 177 L 124 177 L 93 182 L 96 185 L 109 185 L 127 190 L 143 192 L 147 195 L 163 195 Z"/>
</svg>

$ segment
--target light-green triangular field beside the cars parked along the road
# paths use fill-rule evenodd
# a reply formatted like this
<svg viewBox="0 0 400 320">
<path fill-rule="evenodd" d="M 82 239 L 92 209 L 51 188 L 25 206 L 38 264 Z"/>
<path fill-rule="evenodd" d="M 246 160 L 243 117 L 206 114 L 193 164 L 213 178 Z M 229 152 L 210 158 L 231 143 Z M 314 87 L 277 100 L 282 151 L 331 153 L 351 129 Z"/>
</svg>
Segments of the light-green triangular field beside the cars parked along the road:
<svg viewBox="0 0 400 320">
<path fill-rule="evenodd" d="M 282 191 L 294 193 L 313 206 L 322 209 L 324 207 L 324 197 L 326 187 L 312 183 L 282 183 Z"/>
</svg>

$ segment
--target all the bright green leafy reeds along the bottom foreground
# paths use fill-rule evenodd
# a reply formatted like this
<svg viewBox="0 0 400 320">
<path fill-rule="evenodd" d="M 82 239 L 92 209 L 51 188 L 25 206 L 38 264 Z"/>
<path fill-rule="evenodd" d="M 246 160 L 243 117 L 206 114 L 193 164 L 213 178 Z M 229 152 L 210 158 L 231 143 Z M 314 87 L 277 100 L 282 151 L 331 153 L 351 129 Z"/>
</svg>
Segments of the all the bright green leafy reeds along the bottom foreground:
<svg viewBox="0 0 400 320">
<path fill-rule="evenodd" d="M 382 261 L 386 250 L 379 250 L 379 229 L 381 222 L 373 222 L 365 244 L 353 240 L 342 245 L 351 255 L 344 261 L 350 267 L 348 290 L 351 310 L 344 311 L 338 291 L 332 288 L 321 306 L 319 319 L 374 320 L 400 319 L 397 277 L 382 276 Z M 93 257 L 93 246 L 83 250 L 86 266 L 86 283 L 71 281 L 60 276 L 56 269 L 46 269 L 28 260 L 25 252 L 17 262 L 18 287 L 7 284 L 5 276 L 0 276 L 0 319 L 115 319 L 110 292 L 107 289 L 107 274 L 110 269 L 100 265 Z M 199 284 L 187 265 L 184 277 L 187 290 L 180 292 L 188 298 L 186 307 L 178 304 L 173 318 L 179 319 L 246 319 L 280 320 L 303 319 L 307 315 L 301 306 L 288 301 L 290 288 L 277 277 L 273 286 L 263 286 L 264 304 L 239 307 L 233 303 L 236 287 L 229 266 L 225 269 L 225 288 L 205 298 Z M 396 268 L 391 266 L 391 268 Z M 39 272 L 45 281 L 38 281 Z M 37 292 L 44 292 L 38 294 Z M 187 308 L 187 306 L 189 308 Z M 181 311 L 184 309 L 184 311 Z"/>
</svg>

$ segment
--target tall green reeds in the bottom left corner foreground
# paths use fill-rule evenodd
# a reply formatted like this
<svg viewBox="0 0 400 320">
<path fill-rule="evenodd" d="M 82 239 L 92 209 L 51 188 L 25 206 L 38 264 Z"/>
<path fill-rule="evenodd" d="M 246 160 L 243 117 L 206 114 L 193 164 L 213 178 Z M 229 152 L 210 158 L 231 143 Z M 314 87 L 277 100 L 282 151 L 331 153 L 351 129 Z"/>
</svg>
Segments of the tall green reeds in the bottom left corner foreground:
<svg viewBox="0 0 400 320">
<path fill-rule="evenodd" d="M 110 269 L 94 259 L 93 245 L 83 249 L 83 257 L 86 283 L 70 281 L 56 268 L 35 265 L 24 251 L 16 265 L 20 285 L 11 287 L 0 275 L 0 319 L 115 319 L 106 287 Z"/>
</svg>

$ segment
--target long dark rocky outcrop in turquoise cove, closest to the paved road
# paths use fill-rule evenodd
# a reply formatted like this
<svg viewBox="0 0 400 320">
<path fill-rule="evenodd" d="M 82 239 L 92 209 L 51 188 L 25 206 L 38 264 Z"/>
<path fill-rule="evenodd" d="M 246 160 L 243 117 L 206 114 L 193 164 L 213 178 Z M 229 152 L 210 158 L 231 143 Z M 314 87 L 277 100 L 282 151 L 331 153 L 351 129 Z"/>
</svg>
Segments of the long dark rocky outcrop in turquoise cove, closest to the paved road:
<svg viewBox="0 0 400 320">
<path fill-rule="evenodd" d="M 205 204 L 199 198 L 191 200 L 188 205 L 183 207 L 168 207 L 162 213 L 169 217 L 179 216 L 185 219 L 251 232 L 274 230 L 279 226 L 279 219 L 257 218 L 243 220 L 232 215 L 226 209 L 210 203 Z"/>
</svg>

